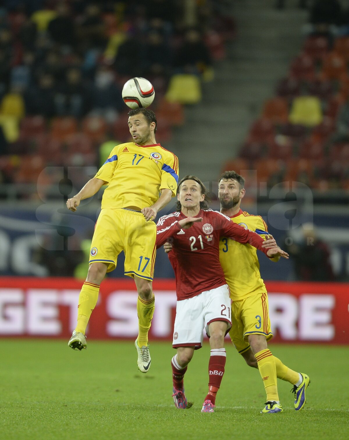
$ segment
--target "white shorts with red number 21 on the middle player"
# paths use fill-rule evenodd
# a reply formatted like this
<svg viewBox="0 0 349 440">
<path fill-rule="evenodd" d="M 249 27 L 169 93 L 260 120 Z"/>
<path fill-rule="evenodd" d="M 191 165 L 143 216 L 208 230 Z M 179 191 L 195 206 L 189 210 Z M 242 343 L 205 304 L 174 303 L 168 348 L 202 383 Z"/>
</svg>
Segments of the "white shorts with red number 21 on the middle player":
<svg viewBox="0 0 349 440">
<path fill-rule="evenodd" d="M 177 301 L 172 346 L 177 348 L 195 345 L 195 349 L 201 348 L 203 330 L 205 329 L 207 336 L 210 336 L 208 326 L 213 321 L 227 322 L 228 333 L 232 320 L 227 284 L 205 290 L 193 298 Z"/>
</svg>

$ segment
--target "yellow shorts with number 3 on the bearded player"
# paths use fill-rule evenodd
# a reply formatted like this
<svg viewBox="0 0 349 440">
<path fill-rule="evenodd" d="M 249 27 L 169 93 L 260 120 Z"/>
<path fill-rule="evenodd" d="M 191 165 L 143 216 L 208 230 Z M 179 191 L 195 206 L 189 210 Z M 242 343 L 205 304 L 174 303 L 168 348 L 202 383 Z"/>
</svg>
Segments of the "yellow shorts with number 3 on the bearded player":
<svg viewBox="0 0 349 440">
<path fill-rule="evenodd" d="M 267 341 L 273 337 L 270 330 L 268 295 L 266 292 L 232 302 L 232 327 L 229 336 L 240 354 L 250 348 L 247 340 L 250 334 L 265 335 Z"/>
</svg>

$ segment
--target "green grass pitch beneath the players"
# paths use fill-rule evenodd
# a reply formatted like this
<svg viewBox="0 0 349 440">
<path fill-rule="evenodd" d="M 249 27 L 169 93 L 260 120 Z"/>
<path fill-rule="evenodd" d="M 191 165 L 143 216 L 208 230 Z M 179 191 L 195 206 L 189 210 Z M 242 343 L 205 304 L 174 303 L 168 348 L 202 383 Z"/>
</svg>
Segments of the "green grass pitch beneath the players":
<svg viewBox="0 0 349 440">
<path fill-rule="evenodd" d="M 171 342 L 150 344 L 152 366 L 138 372 L 133 341 L 0 339 L 2 440 L 348 439 L 348 347 L 276 345 L 286 365 L 309 374 L 307 403 L 294 411 L 291 385 L 278 381 L 282 414 L 260 414 L 265 393 L 258 370 L 227 341 L 227 363 L 213 414 L 200 412 L 207 392 L 209 346 L 185 375 L 193 407 L 175 408 Z"/>
</svg>

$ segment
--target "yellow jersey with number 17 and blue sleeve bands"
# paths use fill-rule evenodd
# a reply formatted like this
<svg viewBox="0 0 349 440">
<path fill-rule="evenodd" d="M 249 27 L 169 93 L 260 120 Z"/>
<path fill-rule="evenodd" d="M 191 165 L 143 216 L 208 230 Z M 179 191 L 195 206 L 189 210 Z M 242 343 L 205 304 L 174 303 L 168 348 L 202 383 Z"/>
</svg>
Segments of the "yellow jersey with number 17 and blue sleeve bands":
<svg viewBox="0 0 349 440">
<path fill-rule="evenodd" d="M 142 209 L 153 205 L 164 188 L 176 195 L 178 158 L 159 143 L 122 143 L 113 148 L 95 177 L 108 182 L 102 209 L 127 206 Z"/>
</svg>

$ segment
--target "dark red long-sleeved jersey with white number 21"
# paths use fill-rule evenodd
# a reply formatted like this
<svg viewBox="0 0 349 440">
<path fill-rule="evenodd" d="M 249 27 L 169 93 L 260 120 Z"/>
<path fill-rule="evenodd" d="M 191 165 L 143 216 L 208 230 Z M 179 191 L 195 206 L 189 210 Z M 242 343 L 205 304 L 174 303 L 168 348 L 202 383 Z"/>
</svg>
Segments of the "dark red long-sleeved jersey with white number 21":
<svg viewBox="0 0 349 440">
<path fill-rule="evenodd" d="M 233 223 L 218 211 L 201 209 L 196 217 L 202 217 L 203 221 L 194 223 L 188 229 L 181 229 L 178 221 L 185 217 L 183 213 L 172 213 L 161 217 L 156 225 L 156 247 L 163 246 L 167 241 L 173 245 L 168 257 L 175 271 L 178 301 L 226 283 L 219 263 L 221 236 L 249 243 L 265 254 L 267 252 L 262 248 L 262 237 Z"/>
</svg>

